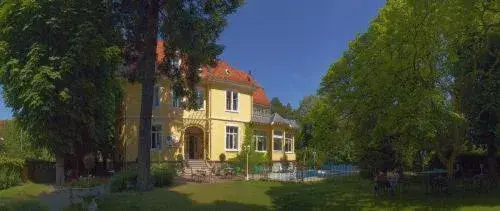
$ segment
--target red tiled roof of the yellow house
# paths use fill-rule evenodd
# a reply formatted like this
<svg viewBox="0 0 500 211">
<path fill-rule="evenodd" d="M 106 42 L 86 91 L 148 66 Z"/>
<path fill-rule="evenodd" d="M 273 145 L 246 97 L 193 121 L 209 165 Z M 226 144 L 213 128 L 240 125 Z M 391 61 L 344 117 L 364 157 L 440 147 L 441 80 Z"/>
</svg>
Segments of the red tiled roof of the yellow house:
<svg viewBox="0 0 500 211">
<path fill-rule="evenodd" d="M 165 58 L 164 48 L 164 41 L 158 41 L 156 48 L 157 63 L 161 62 L 161 60 Z M 252 94 L 253 102 L 261 106 L 271 105 L 264 89 L 252 78 L 250 74 L 243 70 L 234 68 L 225 61 L 217 61 L 215 66 L 204 66 L 202 68 L 201 77 L 204 79 L 215 78 L 254 86 L 256 87 L 256 90 Z"/>
</svg>

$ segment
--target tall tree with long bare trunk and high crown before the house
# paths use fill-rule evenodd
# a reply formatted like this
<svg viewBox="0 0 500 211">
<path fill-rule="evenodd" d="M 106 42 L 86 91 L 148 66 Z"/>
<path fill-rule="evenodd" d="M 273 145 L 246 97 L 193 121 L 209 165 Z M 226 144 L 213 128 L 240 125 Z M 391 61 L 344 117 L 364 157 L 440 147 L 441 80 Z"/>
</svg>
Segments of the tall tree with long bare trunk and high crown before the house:
<svg viewBox="0 0 500 211">
<path fill-rule="evenodd" d="M 139 176 L 141 190 L 151 188 L 150 142 L 153 88 L 158 74 L 168 76 L 176 92 L 189 98 L 187 108 L 195 108 L 198 69 L 212 64 L 222 53 L 216 43 L 242 0 L 122 0 L 119 8 L 125 32 L 128 73 L 142 84 L 139 128 Z M 163 61 L 156 63 L 157 41 L 165 41 Z M 180 65 L 177 60 L 182 59 Z M 188 88 L 188 89 L 185 89 Z M 185 91 L 188 90 L 188 91 Z"/>
</svg>

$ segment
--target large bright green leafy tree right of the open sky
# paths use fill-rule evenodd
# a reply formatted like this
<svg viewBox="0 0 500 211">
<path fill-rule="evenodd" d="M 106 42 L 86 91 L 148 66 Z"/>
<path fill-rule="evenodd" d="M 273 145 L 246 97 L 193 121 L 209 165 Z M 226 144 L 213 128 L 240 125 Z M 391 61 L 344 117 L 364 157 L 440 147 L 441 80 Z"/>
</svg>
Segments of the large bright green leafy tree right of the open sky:
<svg viewBox="0 0 500 211">
<path fill-rule="evenodd" d="M 332 64 L 319 90 L 333 115 L 331 119 L 336 119 L 336 125 L 349 134 L 360 157 L 373 147 L 390 143 L 397 153 L 395 157 L 401 159 L 395 163 L 409 166 L 420 149 L 440 151 L 436 146 L 458 146 L 450 140 L 463 137 L 463 130 L 457 129 L 462 123 L 450 123 L 460 122 L 450 120 L 450 116 L 467 113 L 467 106 L 454 102 L 460 100 L 455 96 L 463 93 L 455 86 L 460 81 L 454 73 L 456 64 L 463 61 L 459 49 L 467 43 L 473 49 L 487 49 L 480 47 L 487 45 L 478 46 L 481 42 L 475 39 L 486 40 L 486 36 L 478 36 L 478 29 L 498 30 L 498 12 L 494 11 L 498 11 L 498 2 L 487 0 L 387 2 L 367 32 L 357 36 L 343 57 Z M 476 59 L 469 61 L 486 58 L 478 51 L 465 52 L 469 52 L 465 57 Z M 489 52 L 491 58 L 498 58 L 497 52 Z M 490 64 L 495 64 L 495 59 L 489 59 Z M 498 68 L 489 65 L 488 69 Z M 494 96 L 498 88 L 492 85 L 497 80 L 491 75 L 489 88 L 476 89 L 475 93 L 488 93 L 491 99 L 497 99 Z M 487 77 L 479 78 L 484 82 Z M 497 107 L 492 106 L 493 101 L 479 101 L 492 108 L 484 115 L 490 119 L 484 127 L 489 131 L 495 128 L 491 111 Z M 478 116 L 475 119 L 481 119 Z M 474 128 L 481 125 L 473 118 L 466 119 Z M 333 131 L 333 125 L 315 130 Z"/>
</svg>

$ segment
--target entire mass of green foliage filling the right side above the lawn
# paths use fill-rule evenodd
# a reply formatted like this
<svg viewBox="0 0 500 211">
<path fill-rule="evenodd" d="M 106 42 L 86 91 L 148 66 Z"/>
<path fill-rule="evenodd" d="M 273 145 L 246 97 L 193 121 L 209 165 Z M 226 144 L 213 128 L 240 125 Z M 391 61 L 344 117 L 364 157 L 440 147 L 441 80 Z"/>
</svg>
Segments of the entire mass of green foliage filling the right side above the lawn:
<svg viewBox="0 0 500 211">
<path fill-rule="evenodd" d="M 426 150 L 452 172 L 467 124 L 469 139 L 485 131 L 494 139 L 498 8 L 487 0 L 388 1 L 323 77 L 309 114 L 311 146 L 369 171 L 411 166 Z M 383 156 L 388 137 L 394 158 Z"/>
</svg>

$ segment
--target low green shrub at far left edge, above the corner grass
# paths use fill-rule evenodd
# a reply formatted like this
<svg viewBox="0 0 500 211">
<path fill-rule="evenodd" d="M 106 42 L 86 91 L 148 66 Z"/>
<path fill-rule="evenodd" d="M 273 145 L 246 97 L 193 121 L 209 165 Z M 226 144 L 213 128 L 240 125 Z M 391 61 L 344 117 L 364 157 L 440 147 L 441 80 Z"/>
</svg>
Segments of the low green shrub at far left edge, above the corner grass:
<svg viewBox="0 0 500 211">
<path fill-rule="evenodd" d="M 22 182 L 24 160 L 0 157 L 0 190 Z"/>
</svg>

